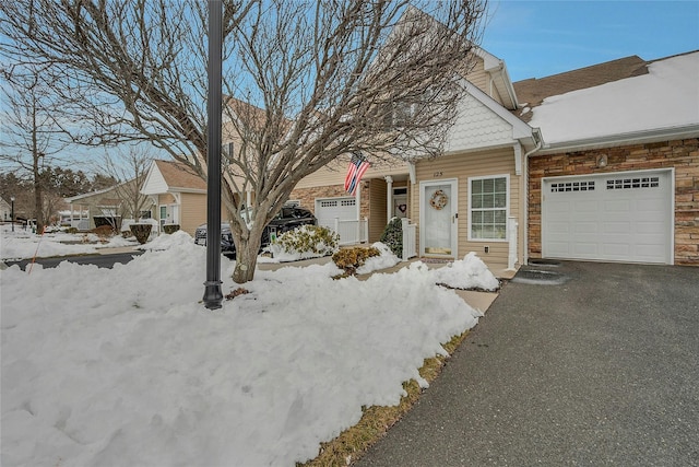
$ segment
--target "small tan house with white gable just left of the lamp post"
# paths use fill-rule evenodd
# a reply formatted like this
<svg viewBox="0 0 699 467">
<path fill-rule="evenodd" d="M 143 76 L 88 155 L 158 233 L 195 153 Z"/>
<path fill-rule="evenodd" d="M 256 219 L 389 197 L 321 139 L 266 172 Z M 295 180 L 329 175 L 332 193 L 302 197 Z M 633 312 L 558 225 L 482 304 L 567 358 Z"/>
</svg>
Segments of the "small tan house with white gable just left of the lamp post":
<svg viewBox="0 0 699 467">
<path fill-rule="evenodd" d="M 141 192 L 150 198 L 161 226 L 178 224 L 194 236 L 206 223 L 206 182 L 181 162 L 153 161 Z"/>
</svg>

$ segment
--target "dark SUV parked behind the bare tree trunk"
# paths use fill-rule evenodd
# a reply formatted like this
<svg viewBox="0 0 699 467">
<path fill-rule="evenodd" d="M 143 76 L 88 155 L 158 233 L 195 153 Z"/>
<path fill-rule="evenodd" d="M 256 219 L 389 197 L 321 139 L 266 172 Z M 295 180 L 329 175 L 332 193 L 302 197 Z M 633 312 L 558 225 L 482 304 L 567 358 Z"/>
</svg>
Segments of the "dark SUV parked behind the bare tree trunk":
<svg viewBox="0 0 699 467">
<path fill-rule="evenodd" d="M 270 238 L 296 229 L 299 225 L 317 225 L 318 220 L 308 209 L 296 207 L 284 207 L 282 211 L 264 227 L 262 231 L 262 247 L 270 244 Z M 200 225 L 194 232 L 194 243 L 198 245 L 206 245 L 206 224 Z M 235 257 L 236 245 L 233 242 L 230 225 L 228 223 L 221 224 L 221 253 L 226 256 Z"/>
</svg>

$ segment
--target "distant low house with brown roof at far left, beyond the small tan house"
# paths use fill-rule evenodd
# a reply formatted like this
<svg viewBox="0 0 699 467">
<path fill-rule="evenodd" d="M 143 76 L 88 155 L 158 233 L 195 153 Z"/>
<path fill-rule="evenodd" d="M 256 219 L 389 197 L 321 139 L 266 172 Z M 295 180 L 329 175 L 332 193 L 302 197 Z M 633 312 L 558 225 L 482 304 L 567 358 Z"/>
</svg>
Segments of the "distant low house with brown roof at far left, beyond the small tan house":
<svg viewBox="0 0 699 467">
<path fill-rule="evenodd" d="M 129 180 L 110 188 L 66 198 L 69 209 L 60 212 L 61 224 L 80 231 L 88 231 L 100 225 L 119 229 L 128 206 L 123 197 L 135 190 L 135 187 L 129 186 L 133 184 L 134 180 Z M 151 215 L 147 208 L 144 211 L 140 213 L 141 217 Z"/>
</svg>

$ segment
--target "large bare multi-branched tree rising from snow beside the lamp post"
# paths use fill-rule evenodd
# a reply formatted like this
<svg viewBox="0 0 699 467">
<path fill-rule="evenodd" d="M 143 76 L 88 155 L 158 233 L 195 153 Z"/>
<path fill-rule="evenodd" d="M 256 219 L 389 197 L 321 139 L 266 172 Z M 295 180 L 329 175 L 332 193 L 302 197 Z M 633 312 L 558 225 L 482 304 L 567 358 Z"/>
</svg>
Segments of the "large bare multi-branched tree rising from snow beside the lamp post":
<svg viewBox="0 0 699 467">
<path fill-rule="evenodd" d="M 465 92 L 485 0 L 229 0 L 224 2 L 224 202 L 252 279 L 261 233 L 294 186 L 329 162 L 438 155 Z M 206 173 L 203 2 L 32 0 L 0 3 L 7 55 L 39 57 L 84 142 L 149 140 Z M 240 214 L 252 194 L 252 223 Z M 251 226 L 250 226 L 251 225 Z"/>
</svg>

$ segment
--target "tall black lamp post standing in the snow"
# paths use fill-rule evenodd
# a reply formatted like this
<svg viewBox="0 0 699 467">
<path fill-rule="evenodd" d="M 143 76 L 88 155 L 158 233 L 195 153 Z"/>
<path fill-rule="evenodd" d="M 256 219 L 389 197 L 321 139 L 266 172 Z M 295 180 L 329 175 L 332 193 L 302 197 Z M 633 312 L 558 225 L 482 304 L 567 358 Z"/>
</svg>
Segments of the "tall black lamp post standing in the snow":
<svg viewBox="0 0 699 467">
<path fill-rule="evenodd" d="M 209 128 L 206 139 L 206 282 L 204 306 L 221 308 L 221 125 L 223 14 L 221 0 L 209 0 Z"/>
</svg>

